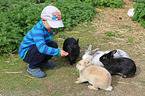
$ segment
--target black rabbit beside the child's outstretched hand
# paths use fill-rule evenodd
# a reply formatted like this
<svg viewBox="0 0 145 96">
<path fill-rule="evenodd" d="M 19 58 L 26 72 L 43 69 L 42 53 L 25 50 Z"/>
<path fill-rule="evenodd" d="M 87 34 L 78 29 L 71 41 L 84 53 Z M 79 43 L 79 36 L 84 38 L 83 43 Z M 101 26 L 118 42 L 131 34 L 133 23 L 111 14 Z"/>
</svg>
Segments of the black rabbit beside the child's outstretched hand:
<svg viewBox="0 0 145 96">
<path fill-rule="evenodd" d="M 76 63 L 77 58 L 80 54 L 79 39 L 75 40 L 74 38 L 67 38 L 63 43 L 63 50 L 68 52 L 68 60 L 70 65 Z"/>
</svg>

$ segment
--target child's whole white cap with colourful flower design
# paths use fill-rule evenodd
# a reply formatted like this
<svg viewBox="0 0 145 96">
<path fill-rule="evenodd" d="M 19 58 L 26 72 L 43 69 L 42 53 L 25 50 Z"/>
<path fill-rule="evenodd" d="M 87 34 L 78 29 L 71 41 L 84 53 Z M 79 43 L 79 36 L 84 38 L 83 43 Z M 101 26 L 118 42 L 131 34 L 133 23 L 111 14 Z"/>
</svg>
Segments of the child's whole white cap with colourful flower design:
<svg viewBox="0 0 145 96">
<path fill-rule="evenodd" d="M 46 6 L 41 12 L 41 18 L 47 20 L 52 28 L 64 27 L 61 12 L 55 6 Z"/>
</svg>

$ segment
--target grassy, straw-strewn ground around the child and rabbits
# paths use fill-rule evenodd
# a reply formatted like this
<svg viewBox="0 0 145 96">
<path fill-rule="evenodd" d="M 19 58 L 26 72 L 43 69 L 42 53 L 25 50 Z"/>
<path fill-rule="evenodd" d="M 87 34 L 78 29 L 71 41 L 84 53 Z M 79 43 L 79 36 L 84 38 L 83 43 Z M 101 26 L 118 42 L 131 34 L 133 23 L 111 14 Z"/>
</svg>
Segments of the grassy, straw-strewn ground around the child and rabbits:
<svg viewBox="0 0 145 96">
<path fill-rule="evenodd" d="M 133 3 L 124 0 L 122 9 L 96 9 L 100 12 L 91 25 L 80 24 L 71 31 L 60 32 L 54 41 L 62 48 L 65 38 L 79 38 L 80 57 L 90 44 L 100 50 L 122 49 L 135 61 L 136 76 L 112 76 L 113 91 L 90 90 L 89 83 L 75 84 L 79 74 L 75 65 L 64 57 L 53 57 L 54 69 L 43 71 L 45 78 L 34 78 L 26 70 L 28 64 L 18 54 L 0 55 L 0 94 L 2 96 L 144 96 L 145 90 L 145 29 L 126 15 Z M 122 19 L 119 19 L 119 18 Z M 1 96 L 0 95 L 0 96 Z"/>
</svg>

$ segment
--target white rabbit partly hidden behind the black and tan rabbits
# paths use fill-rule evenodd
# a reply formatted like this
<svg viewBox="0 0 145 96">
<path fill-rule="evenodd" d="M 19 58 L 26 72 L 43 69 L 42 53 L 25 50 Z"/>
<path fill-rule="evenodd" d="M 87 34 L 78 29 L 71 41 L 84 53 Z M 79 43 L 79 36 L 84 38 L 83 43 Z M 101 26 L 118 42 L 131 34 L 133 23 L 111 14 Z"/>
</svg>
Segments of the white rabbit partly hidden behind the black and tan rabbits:
<svg viewBox="0 0 145 96">
<path fill-rule="evenodd" d="M 105 53 L 109 53 L 110 51 L 98 51 L 99 48 L 91 50 L 91 48 L 92 48 L 92 45 L 90 45 L 88 47 L 88 50 L 82 56 L 82 59 L 86 59 L 86 58 L 88 58 L 88 57 L 90 57 L 90 56 L 92 56 L 94 54 L 95 56 L 94 56 L 91 64 L 103 67 L 104 65 L 102 64 L 102 62 L 99 61 L 99 58 L 102 55 L 104 55 Z M 117 52 L 114 54 L 114 58 L 119 58 L 119 57 L 130 58 L 129 55 L 126 52 L 124 52 L 123 50 L 121 50 L 121 49 L 116 49 L 116 50 L 117 50 Z"/>
</svg>

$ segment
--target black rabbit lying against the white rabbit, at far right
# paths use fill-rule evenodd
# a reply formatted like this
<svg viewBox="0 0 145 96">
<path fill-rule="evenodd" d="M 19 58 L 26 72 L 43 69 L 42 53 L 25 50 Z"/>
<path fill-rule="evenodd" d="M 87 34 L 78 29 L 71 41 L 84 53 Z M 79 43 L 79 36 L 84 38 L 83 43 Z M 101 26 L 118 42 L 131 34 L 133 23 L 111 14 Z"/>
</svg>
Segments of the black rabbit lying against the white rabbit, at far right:
<svg viewBox="0 0 145 96">
<path fill-rule="evenodd" d="M 117 50 L 110 51 L 100 57 L 100 61 L 111 75 L 121 75 L 122 78 L 133 77 L 136 65 L 133 60 L 126 57 L 113 58 Z"/>
</svg>

